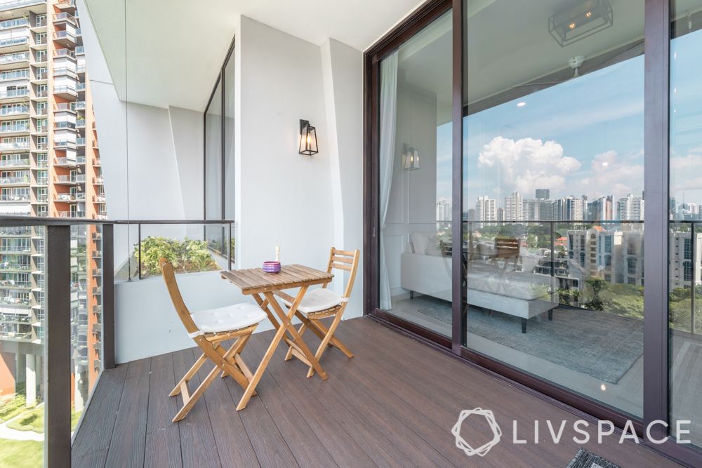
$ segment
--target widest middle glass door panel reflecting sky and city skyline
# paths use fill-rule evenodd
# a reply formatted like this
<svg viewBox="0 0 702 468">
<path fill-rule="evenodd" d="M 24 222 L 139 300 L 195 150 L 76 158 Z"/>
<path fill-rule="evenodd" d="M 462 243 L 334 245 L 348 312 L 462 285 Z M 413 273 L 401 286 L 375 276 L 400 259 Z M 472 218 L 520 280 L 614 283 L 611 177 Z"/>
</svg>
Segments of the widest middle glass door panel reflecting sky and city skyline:
<svg viewBox="0 0 702 468">
<path fill-rule="evenodd" d="M 464 9 L 461 345 L 641 417 L 644 3 Z"/>
</svg>

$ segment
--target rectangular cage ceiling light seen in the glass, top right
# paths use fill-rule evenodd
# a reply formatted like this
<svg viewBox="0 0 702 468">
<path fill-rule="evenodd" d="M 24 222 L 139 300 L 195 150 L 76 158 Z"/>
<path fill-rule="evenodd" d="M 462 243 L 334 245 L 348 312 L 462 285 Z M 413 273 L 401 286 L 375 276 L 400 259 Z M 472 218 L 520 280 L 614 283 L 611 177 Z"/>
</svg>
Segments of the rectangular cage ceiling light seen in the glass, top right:
<svg viewBox="0 0 702 468">
<path fill-rule="evenodd" d="M 548 32 L 561 47 L 592 36 L 611 25 L 614 25 L 614 13 L 609 0 L 581 0 L 548 18 Z"/>
</svg>

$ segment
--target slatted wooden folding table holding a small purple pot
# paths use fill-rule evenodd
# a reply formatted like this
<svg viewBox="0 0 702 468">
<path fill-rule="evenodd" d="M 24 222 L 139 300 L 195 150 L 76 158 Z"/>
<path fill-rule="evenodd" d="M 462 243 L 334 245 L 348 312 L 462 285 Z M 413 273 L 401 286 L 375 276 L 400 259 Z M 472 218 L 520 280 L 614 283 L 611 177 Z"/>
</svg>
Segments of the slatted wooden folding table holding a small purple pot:
<svg viewBox="0 0 702 468">
<path fill-rule="evenodd" d="M 246 404 L 249 403 L 251 395 L 256 391 L 256 385 L 258 385 L 258 381 L 265 372 L 268 362 L 286 333 L 290 335 L 290 337 L 286 337 L 286 342 L 294 344 L 303 354 L 303 356 L 300 357 L 303 357 L 303 360 L 306 360 L 307 363 L 317 371 L 317 374 L 319 374 L 323 380 L 326 380 L 326 372 L 324 372 L 322 366 L 319 365 L 319 361 L 315 359 L 314 353 L 305 345 L 305 342 L 302 340 L 298 330 L 296 330 L 291 321 L 293 316 L 295 316 L 300 302 L 302 302 L 303 297 L 305 297 L 305 293 L 307 293 L 307 288 L 315 284 L 329 283 L 334 275 L 327 272 L 320 272 L 317 269 L 305 267 L 303 265 L 284 265 L 277 274 L 265 273 L 263 269 L 260 268 L 223 271 L 221 274 L 223 279 L 228 279 L 238 286 L 241 289 L 241 293 L 252 295 L 276 329 L 273 340 L 258 365 L 256 373 L 251 376 L 247 375 L 247 377 L 249 377 L 249 387 L 246 387 L 244 396 L 241 397 L 239 406 L 237 406 L 237 410 L 246 408 Z M 295 297 L 288 296 L 281 292 L 284 289 L 291 288 L 300 288 Z M 292 305 L 287 313 L 277 302 L 275 295 L 289 297 Z M 271 308 L 275 314 L 273 314 Z"/>
</svg>

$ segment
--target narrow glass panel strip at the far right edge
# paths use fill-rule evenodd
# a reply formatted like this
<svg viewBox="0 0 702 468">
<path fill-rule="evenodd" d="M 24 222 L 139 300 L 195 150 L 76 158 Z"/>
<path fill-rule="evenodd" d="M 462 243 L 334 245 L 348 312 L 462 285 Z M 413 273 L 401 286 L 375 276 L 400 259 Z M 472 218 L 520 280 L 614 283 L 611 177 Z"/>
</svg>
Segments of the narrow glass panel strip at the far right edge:
<svg viewBox="0 0 702 468">
<path fill-rule="evenodd" d="M 670 12 L 670 423 L 702 447 L 702 1 Z"/>
</svg>

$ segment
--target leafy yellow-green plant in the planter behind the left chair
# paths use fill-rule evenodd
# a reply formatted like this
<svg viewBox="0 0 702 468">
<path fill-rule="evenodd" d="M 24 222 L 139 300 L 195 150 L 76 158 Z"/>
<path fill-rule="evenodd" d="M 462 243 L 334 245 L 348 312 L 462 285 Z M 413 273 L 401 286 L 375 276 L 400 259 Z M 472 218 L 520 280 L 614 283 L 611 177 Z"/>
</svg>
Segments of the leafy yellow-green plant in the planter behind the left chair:
<svg viewBox="0 0 702 468">
<path fill-rule="evenodd" d="M 139 245 L 134 247 L 134 255 L 139 255 Z M 162 236 L 148 236 L 141 241 L 141 274 L 150 276 L 161 274 L 159 260 L 165 258 L 173 264 L 176 273 L 207 272 L 218 269 L 207 248 L 206 241 L 185 238 L 184 241 Z"/>
</svg>

